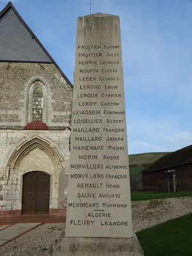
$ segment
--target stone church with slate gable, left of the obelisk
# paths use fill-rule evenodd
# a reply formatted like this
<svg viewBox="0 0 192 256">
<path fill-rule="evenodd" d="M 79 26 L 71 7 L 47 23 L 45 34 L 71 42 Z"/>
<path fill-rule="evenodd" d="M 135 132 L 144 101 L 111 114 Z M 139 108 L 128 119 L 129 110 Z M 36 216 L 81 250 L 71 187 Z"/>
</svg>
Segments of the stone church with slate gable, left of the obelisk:
<svg viewBox="0 0 192 256">
<path fill-rule="evenodd" d="M 0 216 L 66 214 L 72 84 L 10 2 L 0 13 Z"/>
</svg>

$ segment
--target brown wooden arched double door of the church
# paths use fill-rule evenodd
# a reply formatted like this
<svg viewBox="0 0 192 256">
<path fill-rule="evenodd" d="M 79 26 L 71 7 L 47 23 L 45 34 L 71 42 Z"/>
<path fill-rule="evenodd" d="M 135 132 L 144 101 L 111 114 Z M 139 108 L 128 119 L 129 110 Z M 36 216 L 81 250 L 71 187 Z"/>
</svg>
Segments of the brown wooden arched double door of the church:
<svg viewBox="0 0 192 256">
<path fill-rule="evenodd" d="M 29 172 L 23 176 L 22 214 L 49 214 L 50 175 Z"/>
</svg>

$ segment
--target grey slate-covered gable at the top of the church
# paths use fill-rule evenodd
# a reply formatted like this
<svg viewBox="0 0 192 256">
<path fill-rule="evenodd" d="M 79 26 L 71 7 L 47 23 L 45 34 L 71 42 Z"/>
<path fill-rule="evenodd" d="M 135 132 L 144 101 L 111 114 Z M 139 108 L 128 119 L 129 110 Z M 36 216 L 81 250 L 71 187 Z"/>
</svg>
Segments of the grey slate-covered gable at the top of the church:
<svg viewBox="0 0 192 256">
<path fill-rule="evenodd" d="M 20 17 L 12 2 L 0 12 L 0 61 L 53 63 L 67 83 L 72 86 L 33 31 Z"/>
</svg>

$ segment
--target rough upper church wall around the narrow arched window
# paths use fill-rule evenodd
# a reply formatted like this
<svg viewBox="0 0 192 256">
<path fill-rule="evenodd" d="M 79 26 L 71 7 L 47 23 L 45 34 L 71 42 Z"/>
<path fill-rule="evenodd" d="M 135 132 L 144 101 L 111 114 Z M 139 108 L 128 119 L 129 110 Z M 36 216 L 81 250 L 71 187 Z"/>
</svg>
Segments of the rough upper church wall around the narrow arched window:
<svg viewBox="0 0 192 256">
<path fill-rule="evenodd" d="M 32 121 L 33 88 L 44 93 L 43 122 L 70 126 L 72 88 L 54 64 L 0 62 L 0 129 L 23 129 Z"/>
</svg>

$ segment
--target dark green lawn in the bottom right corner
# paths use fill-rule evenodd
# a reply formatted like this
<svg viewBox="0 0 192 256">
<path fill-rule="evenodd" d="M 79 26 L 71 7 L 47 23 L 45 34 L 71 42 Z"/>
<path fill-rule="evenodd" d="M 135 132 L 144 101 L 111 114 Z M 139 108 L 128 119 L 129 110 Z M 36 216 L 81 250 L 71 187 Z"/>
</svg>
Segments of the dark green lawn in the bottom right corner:
<svg viewBox="0 0 192 256">
<path fill-rule="evenodd" d="M 192 255 L 192 214 L 136 233 L 145 256 Z"/>
</svg>

